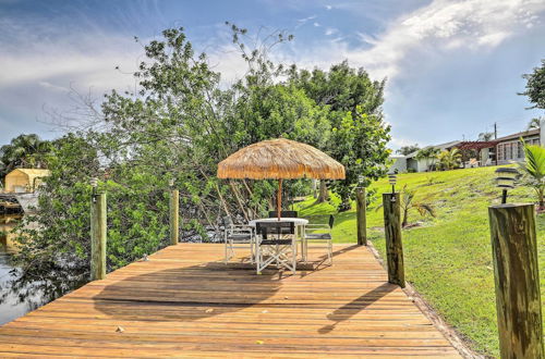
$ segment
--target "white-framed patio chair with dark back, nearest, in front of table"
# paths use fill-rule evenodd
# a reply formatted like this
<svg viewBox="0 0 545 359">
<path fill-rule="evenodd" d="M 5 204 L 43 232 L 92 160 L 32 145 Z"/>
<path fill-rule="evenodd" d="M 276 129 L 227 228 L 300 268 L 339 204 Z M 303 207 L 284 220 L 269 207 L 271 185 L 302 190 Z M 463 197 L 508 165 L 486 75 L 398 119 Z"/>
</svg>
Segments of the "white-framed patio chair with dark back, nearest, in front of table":
<svg viewBox="0 0 545 359">
<path fill-rule="evenodd" d="M 256 264 L 257 274 L 271 263 L 295 274 L 296 243 L 293 222 L 257 222 Z"/>
</svg>

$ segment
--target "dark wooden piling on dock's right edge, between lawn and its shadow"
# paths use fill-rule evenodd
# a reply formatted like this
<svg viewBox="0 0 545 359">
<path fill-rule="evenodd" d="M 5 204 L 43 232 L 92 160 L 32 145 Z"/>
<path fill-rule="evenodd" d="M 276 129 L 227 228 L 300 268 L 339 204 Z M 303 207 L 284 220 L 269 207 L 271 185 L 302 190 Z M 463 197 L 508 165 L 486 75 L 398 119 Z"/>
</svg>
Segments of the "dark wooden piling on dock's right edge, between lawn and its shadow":
<svg viewBox="0 0 545 359">
<path fill-rule="evenodd" d="M 404 288 L 405 274 L 403 246 L 401 244 L 400 194 L 383 194 L 384 230 L 386 235 L 386 259 L 388 282 Z"/>
</svg>

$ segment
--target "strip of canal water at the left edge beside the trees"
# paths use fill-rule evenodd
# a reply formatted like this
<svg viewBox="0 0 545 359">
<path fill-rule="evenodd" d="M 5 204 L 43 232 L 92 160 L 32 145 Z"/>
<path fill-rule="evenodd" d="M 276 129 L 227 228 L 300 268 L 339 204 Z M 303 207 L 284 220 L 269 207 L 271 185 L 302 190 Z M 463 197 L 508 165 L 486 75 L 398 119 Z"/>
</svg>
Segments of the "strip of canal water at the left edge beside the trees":
<svg viewBox="0 0 545 359">
<path fill-rule="evenodd" d="M 15 278 L 12 271 L 16 271 L 11 263 L 11 257 L 16 247 L 13 242 L 14 234 L 10 232 L 15 225 L 13 218 L 0 215 L 0 325 L 33 310 L 36 299 L 35 296 L 20 298 L 11 290 L 10 281 Z"/>
</svg>

